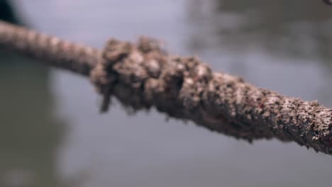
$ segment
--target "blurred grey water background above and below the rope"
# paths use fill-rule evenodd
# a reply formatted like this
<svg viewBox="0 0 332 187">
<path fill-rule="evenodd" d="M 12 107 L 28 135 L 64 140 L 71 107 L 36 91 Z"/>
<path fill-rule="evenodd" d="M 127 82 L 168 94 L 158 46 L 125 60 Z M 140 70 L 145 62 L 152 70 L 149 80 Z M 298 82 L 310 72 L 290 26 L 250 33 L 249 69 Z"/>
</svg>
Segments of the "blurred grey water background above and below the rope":
<svg viewBox="0 0 332 187">
<path fill-rule="evenodd" d="M 94 47 L 152 36 L 332 107 L 332 6 L 322 1 L 0 0 L 0 16 Z M 119 103 L 100 115 L 100 102 L 88 79 L 1 52 L 0 186 L 331 186 L 331 156 L 250 145 L 156 111 L 128 115 Z"/>
</svg>

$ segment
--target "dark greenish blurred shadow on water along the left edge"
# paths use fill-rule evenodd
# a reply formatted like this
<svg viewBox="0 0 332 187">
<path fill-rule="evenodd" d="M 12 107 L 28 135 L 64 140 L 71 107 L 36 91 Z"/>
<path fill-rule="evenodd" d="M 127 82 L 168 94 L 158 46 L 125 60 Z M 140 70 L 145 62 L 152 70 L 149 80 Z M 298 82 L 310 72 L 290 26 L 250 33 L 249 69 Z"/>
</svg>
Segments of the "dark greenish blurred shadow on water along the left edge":
<svg viewBox="0 0 332 187">
<path fill-rule="evenodd" d="M 0 0 L 0 19 L 20 23 Z M 47 67 L 0 51 L 0 186 L 64 186 L 55 155 L 65 134 L 53 114 Z"/>
</svg>

